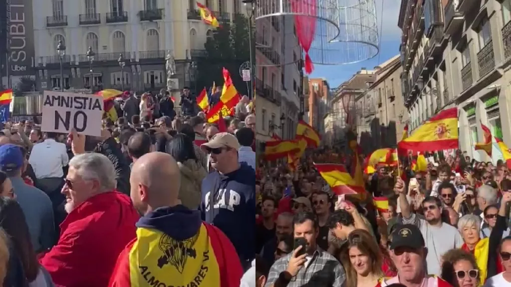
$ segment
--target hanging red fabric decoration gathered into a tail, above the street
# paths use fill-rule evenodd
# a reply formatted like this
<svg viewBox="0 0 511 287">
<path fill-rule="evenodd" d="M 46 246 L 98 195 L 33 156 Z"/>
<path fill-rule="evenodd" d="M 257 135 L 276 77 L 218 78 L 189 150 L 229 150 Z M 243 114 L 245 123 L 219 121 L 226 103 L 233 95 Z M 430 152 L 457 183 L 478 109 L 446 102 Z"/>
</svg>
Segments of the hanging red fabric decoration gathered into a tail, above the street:
<svg viewBox="0 0 511 287">
<path fill-rule="evenodd" d="M 305 52 L 305 73 L 311 74 L 314 69 L 309 50 L 316 33 L 316 15 L 317 0 L 291 0 L 291 10 L 293 13 L 301 14 L 294 16 L 294 26 L 296 28 L 296 36 L 298 42 Z M 310 16 L 303 16 L 303 15 Z"/>
</svg>

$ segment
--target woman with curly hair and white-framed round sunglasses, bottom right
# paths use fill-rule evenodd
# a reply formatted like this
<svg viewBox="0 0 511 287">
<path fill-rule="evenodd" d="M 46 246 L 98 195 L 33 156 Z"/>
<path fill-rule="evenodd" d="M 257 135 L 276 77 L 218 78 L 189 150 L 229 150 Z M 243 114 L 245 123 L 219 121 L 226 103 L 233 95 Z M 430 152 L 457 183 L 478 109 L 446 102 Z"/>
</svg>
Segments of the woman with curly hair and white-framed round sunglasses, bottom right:
<svg viewBox="0 0 511 287">
<path fill-rule="evenodd" d="M 474 255 L 462 249 L 452 249 L 444 254 L 441 277 L 453 287 L 481 285 Z"/>
</svg>

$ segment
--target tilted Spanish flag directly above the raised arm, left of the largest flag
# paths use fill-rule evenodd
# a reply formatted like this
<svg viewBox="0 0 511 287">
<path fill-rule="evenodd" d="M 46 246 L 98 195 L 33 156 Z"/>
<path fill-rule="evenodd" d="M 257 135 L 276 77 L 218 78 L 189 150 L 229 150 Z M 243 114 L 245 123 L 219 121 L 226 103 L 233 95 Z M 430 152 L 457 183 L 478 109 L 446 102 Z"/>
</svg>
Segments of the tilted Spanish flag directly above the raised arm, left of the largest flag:
<svg viewBox="0 0 511 287">
<path fill-rule="evenodd" d="M 335 194 L 365 194 L 365 186 L 357 185 L 344 165 L 334 163 L 314 163 L 314 166 L 321 177 L 327 181 Z"/>
</svg>

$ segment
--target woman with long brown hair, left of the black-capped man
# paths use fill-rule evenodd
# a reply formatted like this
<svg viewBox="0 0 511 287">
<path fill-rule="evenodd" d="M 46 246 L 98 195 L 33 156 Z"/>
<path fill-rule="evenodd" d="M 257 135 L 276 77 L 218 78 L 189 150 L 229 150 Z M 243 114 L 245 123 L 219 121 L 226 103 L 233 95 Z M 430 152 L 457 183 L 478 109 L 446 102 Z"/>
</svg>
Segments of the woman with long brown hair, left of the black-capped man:
<svg viewBox="0 0 511 287">
<path fill-rule="evenodd" d="M 356 229 L 348 235 L 341 248 L 340 259 L 346 271 L 346 287 L 374 287 L 384 274 L 383 258 L 375 238 Z"/>
</svg>

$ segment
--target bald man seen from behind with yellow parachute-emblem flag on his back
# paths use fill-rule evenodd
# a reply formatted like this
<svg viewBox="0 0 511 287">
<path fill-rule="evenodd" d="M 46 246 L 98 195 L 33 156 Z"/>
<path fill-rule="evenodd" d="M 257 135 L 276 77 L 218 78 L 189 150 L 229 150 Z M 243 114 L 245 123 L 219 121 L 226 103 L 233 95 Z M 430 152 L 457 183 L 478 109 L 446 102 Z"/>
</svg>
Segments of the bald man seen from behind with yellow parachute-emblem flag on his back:
<svg viewBox="0 0 511 287">
<path fill-rule="evenodd" d="M 142 218 L 109 286 L 239 287 L 243 270 L 233 244 L 202 222 L 200 211 L 180 204 L 180 177 L 177 162 L 166 153 L 148 153 L 133 164 L 131 200 Z"/>
</svg>

